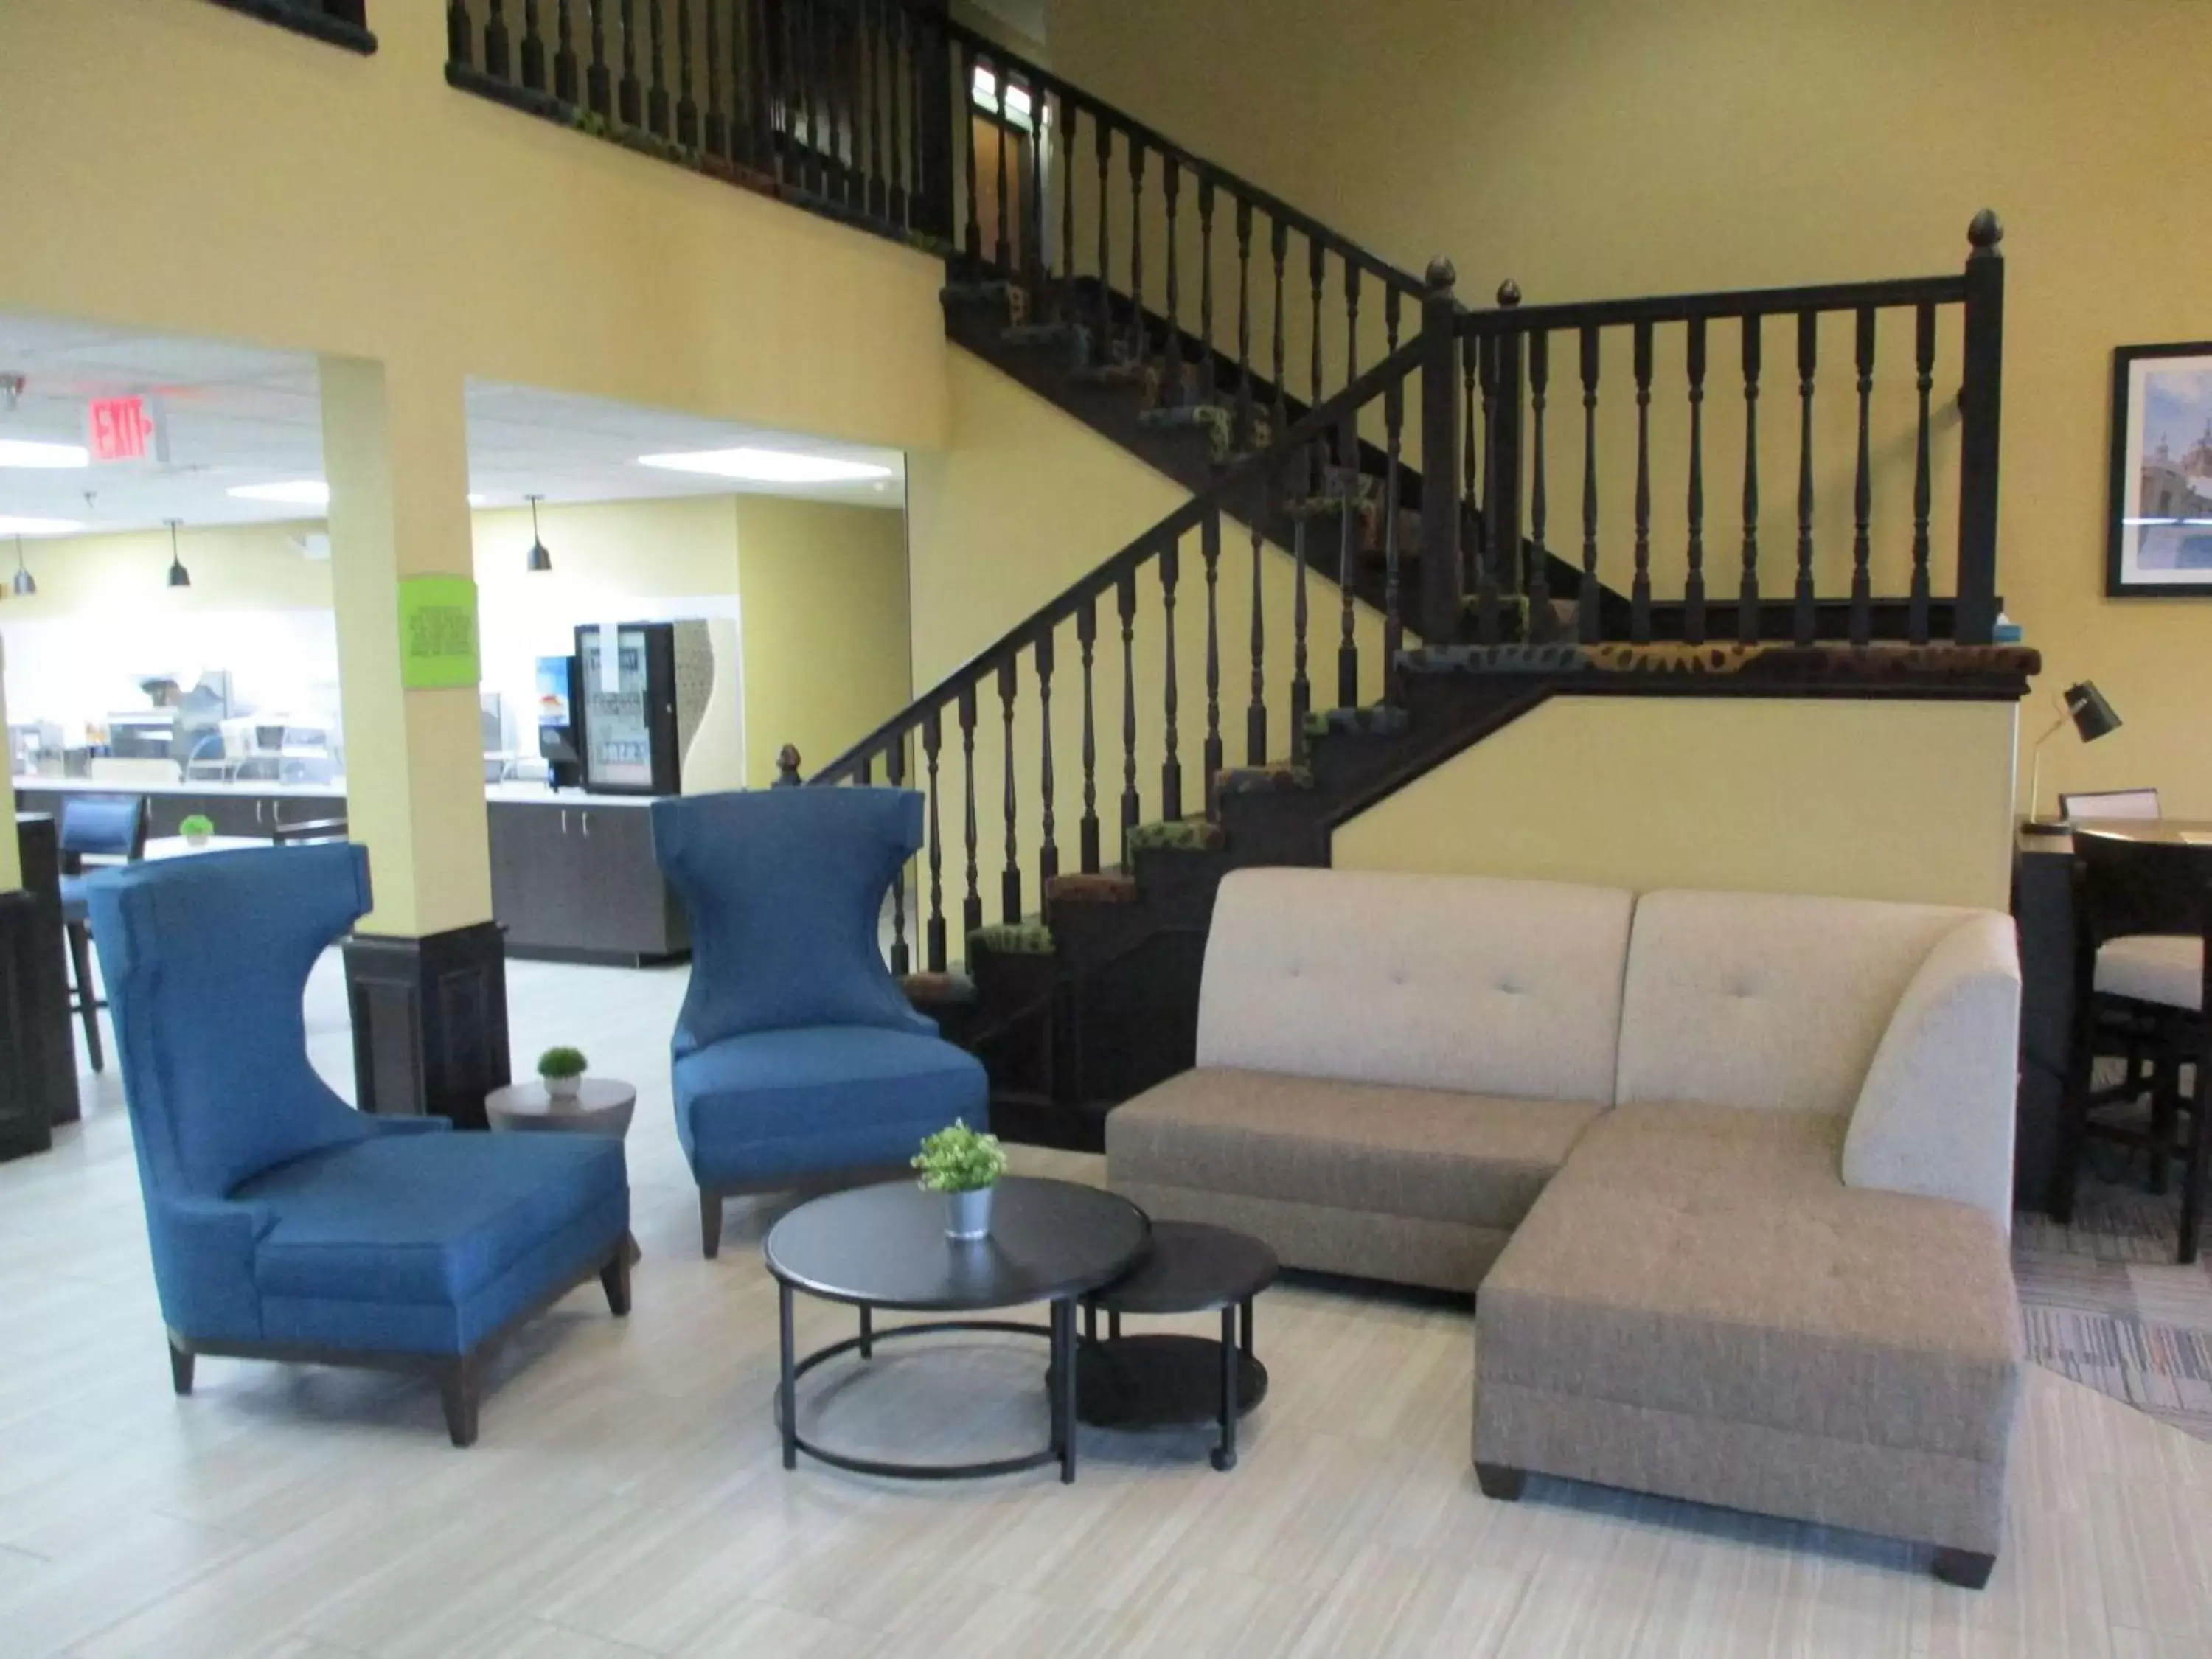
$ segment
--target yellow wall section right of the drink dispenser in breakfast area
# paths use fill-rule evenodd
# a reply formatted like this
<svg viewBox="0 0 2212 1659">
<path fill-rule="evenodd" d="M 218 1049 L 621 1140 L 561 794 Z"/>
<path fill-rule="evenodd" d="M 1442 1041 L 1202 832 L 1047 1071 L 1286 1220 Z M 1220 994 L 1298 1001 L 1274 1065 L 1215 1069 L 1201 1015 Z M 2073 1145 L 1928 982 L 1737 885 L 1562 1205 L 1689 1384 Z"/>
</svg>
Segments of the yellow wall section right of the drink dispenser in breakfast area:
<svg viewBox="0 0 2212 1659">
<path fill-rule="evenodd" d="M 776 750 L 821 765 L 911 692 L 907 520 L 872 507 L 739 498 L 745 599 L 745 781 Z"/>
</svg>

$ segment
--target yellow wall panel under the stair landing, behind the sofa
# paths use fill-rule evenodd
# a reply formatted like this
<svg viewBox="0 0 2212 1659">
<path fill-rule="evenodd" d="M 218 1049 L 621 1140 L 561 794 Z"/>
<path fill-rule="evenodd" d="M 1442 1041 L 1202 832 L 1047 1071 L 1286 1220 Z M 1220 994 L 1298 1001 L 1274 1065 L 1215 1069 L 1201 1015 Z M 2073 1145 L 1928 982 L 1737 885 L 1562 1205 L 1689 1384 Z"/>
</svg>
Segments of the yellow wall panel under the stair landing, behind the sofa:
<svg viewBox="0 0 2212 1659">
<path fill-rule="evenodd" d="M 2011 907 L 2011 703 L 1555 697 L 1336 832 L 1340 869 Z"/>
</svg>

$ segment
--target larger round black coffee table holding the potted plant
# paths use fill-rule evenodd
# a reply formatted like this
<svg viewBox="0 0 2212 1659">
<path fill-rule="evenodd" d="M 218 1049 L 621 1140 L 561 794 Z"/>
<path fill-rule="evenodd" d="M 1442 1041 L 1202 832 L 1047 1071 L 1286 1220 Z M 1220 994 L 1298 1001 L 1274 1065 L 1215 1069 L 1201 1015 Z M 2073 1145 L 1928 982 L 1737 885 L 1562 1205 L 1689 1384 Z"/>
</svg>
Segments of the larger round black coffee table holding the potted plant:
<svg viewBox="0 0 2212 1659">
<path fill-rule="evenodd" d="M 905 1480 L 973 1480 L 1060 1462 L 1075 1480 L 1075 1301 L 1119 1279 L 1144 1256 L 1150 1223 L 1128 1199 L 1073 1181 L 1009 1179 L 998 1183 L 987 1239 L 945 1237 L 945 1197 L 909 1181 L 832 1192 L 792 1210 L 768 1230 L 761 1252 L 776 1279 L 783 1371 L 776 1383 L 776 1427 L 783 1467 L 799 1453 L 860 1475 Z M 860 1334 L 799 1356 L 792 1340 L 792 1296 L 805 1292 L 860 1310 Z M 918 1314 L 971 1314 L 991 1307 L 1051 1303 L 1051 1325 L 998 1318 L 940 1318 L 878 1332 L 878 1307 Z M 1046 1374 L 1053 1440 L 1044 1451 L 993 1462 L 936 1464 L 854 1458 L 799 1433 L 799 1378 L 816 1365 L 894 1336 L 931 1332 L 1011 1332 L 1051 1340 Z"/>
</svg>

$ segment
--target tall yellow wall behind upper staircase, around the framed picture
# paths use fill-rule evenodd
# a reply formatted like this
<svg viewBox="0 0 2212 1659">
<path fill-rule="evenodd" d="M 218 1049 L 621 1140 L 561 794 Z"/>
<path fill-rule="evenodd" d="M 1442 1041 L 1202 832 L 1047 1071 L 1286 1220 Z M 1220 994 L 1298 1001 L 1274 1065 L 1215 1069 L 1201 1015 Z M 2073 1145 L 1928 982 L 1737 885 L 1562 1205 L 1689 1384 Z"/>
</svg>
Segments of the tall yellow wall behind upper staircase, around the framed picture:
<svg viewBox="0 0 2212 1659">
<path fill-rule="evenodd" d="M 2053 743 L 2046 787 L 2157 783 L 2212 816 L 2208 602 L 2101 597 L 2110 352 L 2208 332 L 2212 230 L 2172 210 L 2201 4 L 1367 0 L 1345 29 L 1325 0 L 1051 0 L 1048 35 L 1073 82 L 1383 257 L 1451 254 L 1469 301 L 1942 272 L 1995 206 L 2000 588 L 2042 692 L 2095 677 L 2128 721 Z"/>
</svg>

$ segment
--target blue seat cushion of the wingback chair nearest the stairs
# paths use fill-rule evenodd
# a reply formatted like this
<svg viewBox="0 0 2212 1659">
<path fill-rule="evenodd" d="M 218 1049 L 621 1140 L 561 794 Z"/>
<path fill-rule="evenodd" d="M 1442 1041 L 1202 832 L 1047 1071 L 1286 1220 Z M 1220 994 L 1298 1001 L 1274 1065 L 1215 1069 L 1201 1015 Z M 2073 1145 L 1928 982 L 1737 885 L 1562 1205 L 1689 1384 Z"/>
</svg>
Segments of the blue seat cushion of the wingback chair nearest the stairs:
<svg viewBox="0 0 2212 1659">
<path fill-rule="evenodd" d="M 677 1135 L 710 1186 L 905 1164 L 925 1135 L 989 1113 L 975 1055 L 867 1026 L 730 1037 L 677 1060 L 675 1086 Z"/>
</svg>

